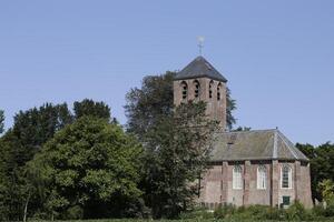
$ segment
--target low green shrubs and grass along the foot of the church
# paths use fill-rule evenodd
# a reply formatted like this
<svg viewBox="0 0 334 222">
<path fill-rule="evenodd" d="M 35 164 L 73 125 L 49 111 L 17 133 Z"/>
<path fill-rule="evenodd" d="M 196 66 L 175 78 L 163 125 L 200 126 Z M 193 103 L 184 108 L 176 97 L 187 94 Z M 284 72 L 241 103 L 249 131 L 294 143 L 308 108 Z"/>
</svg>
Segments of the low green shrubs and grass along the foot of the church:
<svg viewBox="0 0 334 222">
<path fill-rule="evenodd" d="M 235 208 L 233 205 L 225 205 L 208 211 L 207 209 L 194 209 L 193 211 L 183 212 L 175 220 L 160 219 L 157 221 L 173 221 L 173 222 L 253 222 L 253 221 L 334 221 L 334 208 L 324 209 L 316 206 L 312 210 L 305 210 L 298 202 L 291 205 L 289 209 L 283 210 L 277 208 L 264 205 L 250 205 L 247 208 Z M 85 222 L 144 222 L 153 221 L 153 219 L 111 219 L 111 220 L 85 220 Z M 73 221 L 80 222 L 80 221 Z"/>
</svg>

